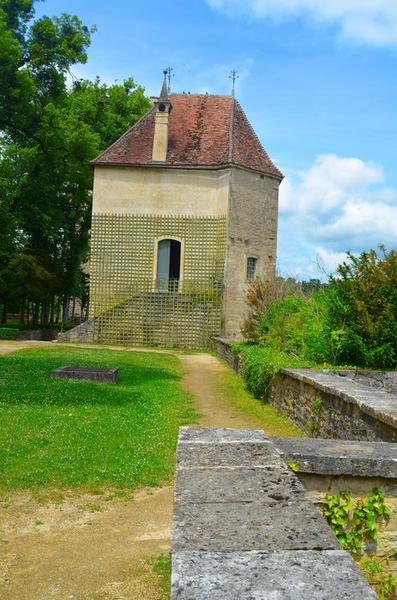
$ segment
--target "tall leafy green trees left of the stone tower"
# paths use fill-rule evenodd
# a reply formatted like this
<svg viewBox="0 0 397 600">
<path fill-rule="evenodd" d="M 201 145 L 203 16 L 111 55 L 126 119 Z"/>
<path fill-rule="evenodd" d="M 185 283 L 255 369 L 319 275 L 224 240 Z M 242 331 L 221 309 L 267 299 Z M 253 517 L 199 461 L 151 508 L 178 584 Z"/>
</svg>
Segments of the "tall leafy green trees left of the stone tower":
<svg viewBox="0 0 397 600">
<path fill-rule="evenodd" d="M 73 15 L 34 20 L 34 0 L 0 0 L 0 302 L 81 297 L 88 256 L 90 161 L 149 108 L 133 79 L 74 80 L 94 27 Z M 29 262 L 28 257 L 31 257 Z M 10 276 L 30 265 L 33 288 Z M 44 277 L 44 273 L 46 274 Z M 38 293 L 46 280 L 45 295 Z M 12 286 L 14 289 L 11 290 Z M 12 299 L 12 300 L 11 300 Z M 6 312 L 6 310 L 5 310 Z M 37 318 L 37 311 L 33 315 Z"/>
</svg>

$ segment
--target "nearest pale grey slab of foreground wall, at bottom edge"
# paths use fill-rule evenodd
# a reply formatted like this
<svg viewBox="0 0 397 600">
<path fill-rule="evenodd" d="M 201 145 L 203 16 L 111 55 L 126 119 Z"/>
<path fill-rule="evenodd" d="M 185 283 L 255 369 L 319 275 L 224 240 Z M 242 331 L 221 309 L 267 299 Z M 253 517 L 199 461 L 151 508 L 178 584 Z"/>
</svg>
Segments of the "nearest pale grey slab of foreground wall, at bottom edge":
<svg viewBox="0 0 397 600">
<path fill-rule="evenodd" d="M 375 600 L 351 557 L 325 552 L 176 552 L 173 600 Z"/>
</svg>

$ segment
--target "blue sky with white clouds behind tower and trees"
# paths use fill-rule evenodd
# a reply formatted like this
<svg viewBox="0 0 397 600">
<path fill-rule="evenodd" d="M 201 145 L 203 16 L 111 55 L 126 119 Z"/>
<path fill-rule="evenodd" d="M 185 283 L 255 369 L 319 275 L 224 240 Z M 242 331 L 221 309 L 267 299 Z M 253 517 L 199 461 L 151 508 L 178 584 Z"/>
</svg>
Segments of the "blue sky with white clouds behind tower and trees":
<svg viewBox="0 0 397 600">
<path fill-rule="evenodd" d="M 279 270 L 316 277 L 346 250 L 397 246 L 396 0 L 47 0 L 98 27 L 76 77 L 237 97 L 286 174 Z"/>
</svg>

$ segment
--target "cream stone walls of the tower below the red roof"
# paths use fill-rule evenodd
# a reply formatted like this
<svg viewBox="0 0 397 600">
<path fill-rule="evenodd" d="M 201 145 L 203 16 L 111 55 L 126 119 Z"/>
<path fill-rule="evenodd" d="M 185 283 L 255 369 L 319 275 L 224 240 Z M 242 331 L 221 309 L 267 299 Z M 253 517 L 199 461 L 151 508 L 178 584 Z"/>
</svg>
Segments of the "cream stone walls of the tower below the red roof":
<svg viewBox="0 0 397 600">
<path fill-rule="evenodd" d="M 216 317 L 210 319 L 214 326 L 208 331 L 204 328 L 204 346 L 211 335 L 221 331 L 229 337 L 241 337 L 247 312 L 248 257 L 256 259 L 256 277 L 266 279 L 275 271 L 278 185 L 272 177 L 235 167 L 217 171 L 97 167 L 90 319 L 108 322 L 106 334 L 99 328 L 99 338 L 114 343 L 149 343 L 142 328 L 135 327 L 130 319 L 136 315 L 143 323 L 148 314 L 139 316 L 137 310 L 123 312 L 119 308 L 130 307 L 133 298 L 134 306 L 138 306 L 137 294 L 153 291 L 157 244 L 164 238 L 182 244 L 181 293 L 198 286 L 206 300 L 214 293 L 223 295 L 222 313 L 218 315 L 216 305 Z M 169 319 L 170 313 L 159 315 L 163 306 L 159 302 L 153 315 L 158 324 L 168 320 L 171 328 L 174 319 Z M 179 303 L 176 313 L 179 328 L 184 325 L 181 306 Z M 191 322 L 193 329 L 203 331 L 202 317 L 206 319 L 207 314 L 208 306 L 204 312 L 187 311 L 184 326 Z M 197 318 L 191 320 L 192 315 Z M 125 327 L 129 331 L 123 333 Z M 155 328 L 153 322 L 151 329 Z M 150 337 L 152 343 L 160 345 L 163 338 L 162 334 Z M 180 334 L 171 330 L 168 338 L 181 340 Z M 185 338 L 193 347 L 203 346 L 202 335 Z"/>
</svg>

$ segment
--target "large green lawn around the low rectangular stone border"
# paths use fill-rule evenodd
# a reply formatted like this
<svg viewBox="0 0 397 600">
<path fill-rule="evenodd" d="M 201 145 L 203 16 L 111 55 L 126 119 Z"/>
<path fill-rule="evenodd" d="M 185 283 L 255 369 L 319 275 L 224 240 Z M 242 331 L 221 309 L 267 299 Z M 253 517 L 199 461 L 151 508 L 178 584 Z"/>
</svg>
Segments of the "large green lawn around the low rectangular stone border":
<svg viewBox="0 0 397 600">
<path fill-rule="evenodd" d="M 117 385 L 54 379 L 60 366 L 119 367 Z M 0 481 L 157 486 L 172 477 L 180 425 L 195 420 L 172 355 L 81 348 L 0 357 Z"/>
</svg>

